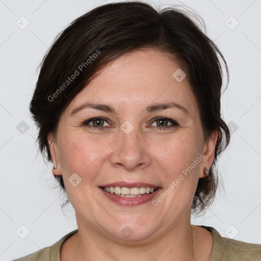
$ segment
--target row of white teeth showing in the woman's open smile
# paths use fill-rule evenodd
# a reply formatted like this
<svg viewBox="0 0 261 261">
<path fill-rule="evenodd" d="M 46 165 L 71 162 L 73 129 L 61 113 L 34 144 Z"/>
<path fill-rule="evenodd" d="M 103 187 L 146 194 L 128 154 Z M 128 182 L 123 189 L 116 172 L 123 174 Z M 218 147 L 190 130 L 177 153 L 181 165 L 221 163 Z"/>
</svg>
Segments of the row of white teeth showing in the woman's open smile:
<svg viewBox="0 0 261 261">
<path fill-rule="evenodd" d="M 124 198 L 136 198 L 142 197 L 148 194 L 154 193 L 158 188 L 150 188 L 150 187 L 135 187 L 135 188 L 124 188 L 124 187 L 100 187 L 104 191 L 115 194 L 119 197 Z"/>
</svg>

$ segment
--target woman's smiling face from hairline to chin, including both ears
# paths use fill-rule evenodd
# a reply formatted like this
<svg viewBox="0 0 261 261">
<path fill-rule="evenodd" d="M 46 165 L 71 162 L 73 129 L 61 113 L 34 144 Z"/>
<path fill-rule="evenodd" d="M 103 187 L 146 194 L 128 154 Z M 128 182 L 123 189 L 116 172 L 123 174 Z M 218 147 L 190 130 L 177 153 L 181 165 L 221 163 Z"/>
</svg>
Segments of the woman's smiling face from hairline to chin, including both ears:
<svg viewBox="0 0 261 261">
<path fill-rule="evenodd" d="M 190 222 L 217 133 L 204 142 L 184 76 L 160 51 L 134 51 L 108 64 L 70 102 L 50 148 L 79 229 L 132 241 L 156 239 Z M 96 117 L 102 119 L 88 121 Z M 101 187 L 140 195 L 121 197 Z M 158 189 L 147 194 L 143 187 Z"/>
</svg>

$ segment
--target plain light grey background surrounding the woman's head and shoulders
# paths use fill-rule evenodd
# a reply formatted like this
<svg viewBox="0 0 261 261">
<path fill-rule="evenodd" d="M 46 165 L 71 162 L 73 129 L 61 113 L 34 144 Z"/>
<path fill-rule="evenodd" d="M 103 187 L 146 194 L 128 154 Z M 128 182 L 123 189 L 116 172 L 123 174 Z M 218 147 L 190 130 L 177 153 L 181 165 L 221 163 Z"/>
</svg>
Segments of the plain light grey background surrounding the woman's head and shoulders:
<svg viewBox="0 0 261 261">
<path fill-rule="evenodd" d="M 106 2 L 111 1 L 0 0 L 1 260 L 50 246 L 77 228 L 72 208 L 64 216 L 59 189 L 52 189 L 56 187 L 52 165 L 37 156 L 37 130 L 28 108 L 37 66 L 55 36 L 73 19 Z M 236 128 L 231 128 L 231 143 L 219 161 L 226 194 L 221 191 L 206 214 L 191 223 L 213 226 L 224 237 L 261 244 L 261 1 L 150 3 L 162 7 L 184 3 L 194 8 L 230 71 L 222 108 L 226 122 Z M 21 30 L 27 20 L 29 26 Z M 18 125 L 21 121 L 28 130 Z M 21 225 L 30 231 L 24 239 L 20 237 L 27 230 Z"/>
</svg>

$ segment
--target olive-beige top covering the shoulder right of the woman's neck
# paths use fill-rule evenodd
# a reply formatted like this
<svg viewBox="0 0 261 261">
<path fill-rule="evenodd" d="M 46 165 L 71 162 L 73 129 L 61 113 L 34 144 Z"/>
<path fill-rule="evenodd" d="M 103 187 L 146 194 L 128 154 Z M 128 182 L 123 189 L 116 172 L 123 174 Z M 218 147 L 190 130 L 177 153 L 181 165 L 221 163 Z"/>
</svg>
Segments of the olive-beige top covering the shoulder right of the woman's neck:
<svg viewBox="0 0 261 261">
<path fill-rule="evenodd" d="M 210 261 L 260 261 L 261 245 L 222 237 L 213 227 L 201 226 L 212 233 L 213 249 Z"/>
</svg>

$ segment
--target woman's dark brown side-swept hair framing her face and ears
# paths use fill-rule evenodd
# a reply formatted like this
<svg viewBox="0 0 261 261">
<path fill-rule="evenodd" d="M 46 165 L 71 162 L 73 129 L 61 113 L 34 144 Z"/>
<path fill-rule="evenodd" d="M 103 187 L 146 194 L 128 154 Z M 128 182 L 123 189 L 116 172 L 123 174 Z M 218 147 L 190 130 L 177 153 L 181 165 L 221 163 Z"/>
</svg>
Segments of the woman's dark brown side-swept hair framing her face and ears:
<svg viewBox="0 0 261 261">
<path fill-rule="evenodd" d="M 201 212 L 212 203 L 218 187 L 216 162 L 230 140 L 220 113 L 222 63 L 227 84 L 228 69 L 218 47 L 206 36 L 204 22 L 197 23 L 189 13 L 198 19 L 195 13 L 176 7 L 156 11 L 141 2 L 106 4 L 75 19 L 56 37 L 41 63 L 30 105 L 39 128 L 39 148 L 47 160 L 51 160 L 47 135 L 56 133 L 59 119 L 75 95 L 110 61 L 133 50 L 153 48 L 168 54 L 186 72 L 205 140 L 219 130 L 210 176 L 199 179 L 192 211 Z M 64 189 L 62 178 L 61 184 Z"/>
</svg>

